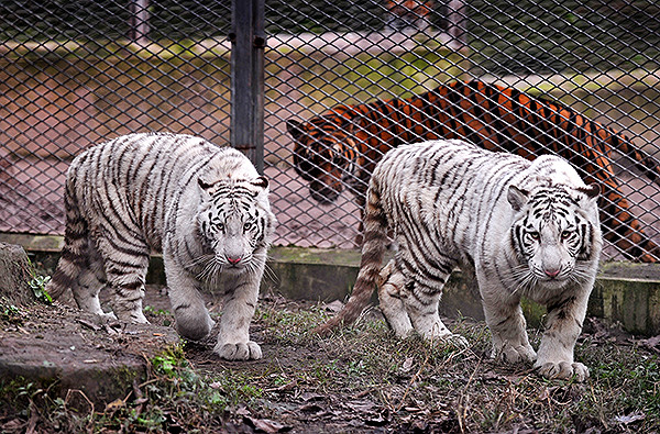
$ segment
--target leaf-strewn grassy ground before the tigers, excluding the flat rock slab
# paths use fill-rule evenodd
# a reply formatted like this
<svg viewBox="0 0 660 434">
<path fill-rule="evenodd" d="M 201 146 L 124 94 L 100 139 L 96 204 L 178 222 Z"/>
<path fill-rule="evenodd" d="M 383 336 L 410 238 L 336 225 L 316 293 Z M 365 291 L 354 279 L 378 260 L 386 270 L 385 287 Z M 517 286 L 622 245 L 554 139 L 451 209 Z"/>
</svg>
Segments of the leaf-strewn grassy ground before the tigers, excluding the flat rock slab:
<svg viewBox="0 0 660 434">
<path fill-rule="evenodd" d="M 66 401 L 51 400 L 40 414 L 61 430 L 122 432 L 212 431 L 254 420 L 294 431 L 332 423 L 343 423 L 332 425 L 336 431 L 660 430 L 660 363 L 635 344 L 583 337 L 576 359 L 592 376 L 578 383 L 492 360 L 491 335 L 480 322 L 448 322 L 471 344 L 457 348 L 398 340 L 373 312 L 327 338 L 309 333 L 328 316 L 320 304 L 262 303 L 253 337 L 264 359 L 196 365 L 174 347 L 154 357 L 147 380 L 114 405 L 76 413 Z M 530 330 L 530 340 L 538 345 L 540 332 Z M 35 390 L 31 396 L 43 396 Z M 34 409 L 23 410 L 24 418 Z"/>
</svg>

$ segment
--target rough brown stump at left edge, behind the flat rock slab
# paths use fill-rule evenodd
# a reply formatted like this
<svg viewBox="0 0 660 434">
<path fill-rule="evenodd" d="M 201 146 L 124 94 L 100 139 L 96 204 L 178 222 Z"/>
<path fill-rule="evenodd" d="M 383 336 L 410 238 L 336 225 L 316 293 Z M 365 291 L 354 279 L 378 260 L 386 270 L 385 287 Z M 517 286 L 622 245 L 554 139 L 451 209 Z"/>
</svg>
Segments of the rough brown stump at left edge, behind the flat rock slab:
<svg viewBox="0 0 660 434">
<path fill-rule="evenodd" d="M 0 242 L 0 299 L 16 305 L 34 301 L 32 265 L 23 247 Z"/>
</svg>

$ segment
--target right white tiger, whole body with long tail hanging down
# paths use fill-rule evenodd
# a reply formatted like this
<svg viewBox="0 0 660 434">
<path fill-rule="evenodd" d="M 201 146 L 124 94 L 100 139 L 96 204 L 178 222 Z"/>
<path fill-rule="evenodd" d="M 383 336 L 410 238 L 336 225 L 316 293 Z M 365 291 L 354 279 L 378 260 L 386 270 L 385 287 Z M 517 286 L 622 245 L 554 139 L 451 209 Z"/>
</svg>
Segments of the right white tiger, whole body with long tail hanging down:
<svg viewBox="0 0 660 434">
<path fill-rule="evenodd" d="M 465 343 L 442 324 L 438 303 L 455 266 L 476 275 L 493 356 L 534 361 L 549 378 L 588 377 L 574 363 L 602 248 L 596 200 L 569 163 L 535 162 L 461 141 L 406 145 L 376 166 L 367 191 L 362 261 L 344 309 L 317 329 L 354 321 L 380 280 L 378 297 L 398 336 Z M 383 270 L 387 227 L 397 252 Z M 520 298 L 548 309 L 538 355 Z"/>
</svg>

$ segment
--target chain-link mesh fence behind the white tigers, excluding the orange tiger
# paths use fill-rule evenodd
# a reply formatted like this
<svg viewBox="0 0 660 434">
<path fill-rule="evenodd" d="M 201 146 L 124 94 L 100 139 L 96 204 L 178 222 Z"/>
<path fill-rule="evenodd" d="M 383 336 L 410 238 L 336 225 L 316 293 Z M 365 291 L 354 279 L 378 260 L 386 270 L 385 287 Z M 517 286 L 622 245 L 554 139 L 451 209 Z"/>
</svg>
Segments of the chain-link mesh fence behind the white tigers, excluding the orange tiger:
<svg viewBox="0 0 660 434">
<path fill-rule="evenodd" d="M 2 2 L 0 232 L 62 234 L 64 174 L 77 153 L 170 131 L 252 153 L 272 179 L 276 245 L 355 248 L 360 191 L 312 199 L 287 121 L 455 80 L 558 101 L 660 159 L 653 1 L 268 0 L 263 20 L 258 4 L 235 2 L 232 25 L 229 0 Z M 242 58 L 239 40 L 256 57 Z M 648 243 L 623 251 L 660 243 L 658 182 L 616 152 L 610 163 L 639 226 L 630 246 L 608 243 L 605 259 L 651 254 Z"/>
</svg>

